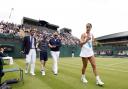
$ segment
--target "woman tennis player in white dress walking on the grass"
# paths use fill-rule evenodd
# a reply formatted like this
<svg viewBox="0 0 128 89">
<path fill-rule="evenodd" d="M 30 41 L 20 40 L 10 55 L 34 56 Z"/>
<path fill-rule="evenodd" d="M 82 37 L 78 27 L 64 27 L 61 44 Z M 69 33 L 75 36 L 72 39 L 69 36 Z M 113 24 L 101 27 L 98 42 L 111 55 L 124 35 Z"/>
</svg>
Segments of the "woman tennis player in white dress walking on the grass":
<svg viewBox="0 0 128 89">
<path fill-rule="evenodd" d="M 94 37 L 93 37 L 93 34 L 91 34 L 90 32 L 91 28 L 92 28 L 91 23 L 87 23 L 86 32 L 81 35 L 81 39 L 80 39 L 80 44 L 81 44 L 80 57 L 82 58 L 82 62 L 83 62 L 81 81 L 83 83 L 88 82 L 85 77 L 85 73 L 86 73 L 86 68 L 89 61 L 93 68 L 93 73 L 96 76 L 96 84 L 103 85 L 104 83 L 101 81 L 96 68 L 96 60 L 93 52 Z"/>
</svg>

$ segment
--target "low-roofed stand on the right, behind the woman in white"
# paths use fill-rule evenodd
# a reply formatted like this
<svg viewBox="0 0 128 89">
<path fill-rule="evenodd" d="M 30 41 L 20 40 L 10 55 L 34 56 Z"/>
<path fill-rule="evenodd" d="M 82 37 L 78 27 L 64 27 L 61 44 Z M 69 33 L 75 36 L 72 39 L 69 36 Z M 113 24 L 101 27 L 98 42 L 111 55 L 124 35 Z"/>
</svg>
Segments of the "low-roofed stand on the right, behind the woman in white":
<svg viewBox="0 0 128 89">
<path fill-rule="evenodd" d="M 107 56 L 128 56 L 128 31 L 110 34 L 96 39 L 95 54 Z"/>
</svg>

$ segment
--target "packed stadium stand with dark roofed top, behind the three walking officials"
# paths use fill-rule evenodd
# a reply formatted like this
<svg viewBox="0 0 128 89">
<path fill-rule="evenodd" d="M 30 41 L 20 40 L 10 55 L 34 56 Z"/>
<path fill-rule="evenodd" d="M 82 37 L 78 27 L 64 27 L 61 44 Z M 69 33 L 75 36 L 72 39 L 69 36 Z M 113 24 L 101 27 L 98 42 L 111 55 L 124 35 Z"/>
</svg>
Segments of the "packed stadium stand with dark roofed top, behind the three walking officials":
<svg viewBox="0 0 128 89">
<path fill-rule="evenodd" d="M 9 56 L 23 57 L 23 54 L 20 53 L 22 40 L 24 36 L 28 35 L 31 28 L 37 29 L 36 39 L 38 42 L 44 35 L 49 41 L 52 33 L 58 31 L 59 26 L 44 20 L 34 20 L 27 17 L 23 17 L 21 25 L 0 22 L 0 45 L 4 45 L 10 50 L 6 51 Z M 71 34 L 71 29 L 63 28 L 63 30 L 60 31 L 60 38 L 62 39 L 61 56 L 71 56 L 72 50 L 75 51 L 75 56 L 79 56 L 79 39 Z"/>
</svg>

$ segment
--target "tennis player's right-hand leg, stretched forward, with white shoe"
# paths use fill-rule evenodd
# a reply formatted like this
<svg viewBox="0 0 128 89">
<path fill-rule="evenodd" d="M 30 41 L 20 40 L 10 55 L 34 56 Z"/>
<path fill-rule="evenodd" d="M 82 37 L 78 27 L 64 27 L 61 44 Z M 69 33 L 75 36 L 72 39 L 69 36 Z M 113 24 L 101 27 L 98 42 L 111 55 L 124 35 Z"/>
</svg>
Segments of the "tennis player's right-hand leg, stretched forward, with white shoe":
<svg viewBox="0 0 128 89">
<path fill-rule="evenodd" d="M 99 75 L 98 75 L 98 72 L 97 72 L 97 68 L 96 68 L 96 59 L 94 56 L 90 57 L 89 58 L 89 61 L 91 63 L 91 66 L 93 68 L 93 73 L 94 75 L 96 76 L 96 84 L 98 85 L 103 85 L 104 83 L 101 81 Z"/>
</svg>

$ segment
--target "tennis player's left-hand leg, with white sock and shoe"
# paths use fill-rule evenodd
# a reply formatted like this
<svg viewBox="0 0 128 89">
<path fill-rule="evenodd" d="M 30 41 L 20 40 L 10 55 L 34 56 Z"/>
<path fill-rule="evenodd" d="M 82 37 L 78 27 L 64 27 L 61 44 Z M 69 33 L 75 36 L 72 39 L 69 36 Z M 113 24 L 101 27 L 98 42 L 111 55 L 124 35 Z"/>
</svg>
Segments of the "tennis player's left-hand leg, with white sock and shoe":
<svg viewBox="0 0 128 89">
<path fill-rule="evenodd" d="M 82 66 L 81 80 L 83 83 L 87 83 L 88 81 L 85 78 L 85 71 L 86 71 L 87 64 L 88 64 L 88 58 L 82 57 L 82 63 L 83 63 L 83 66 Z"/>
</svg>

